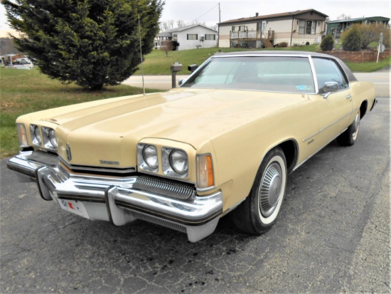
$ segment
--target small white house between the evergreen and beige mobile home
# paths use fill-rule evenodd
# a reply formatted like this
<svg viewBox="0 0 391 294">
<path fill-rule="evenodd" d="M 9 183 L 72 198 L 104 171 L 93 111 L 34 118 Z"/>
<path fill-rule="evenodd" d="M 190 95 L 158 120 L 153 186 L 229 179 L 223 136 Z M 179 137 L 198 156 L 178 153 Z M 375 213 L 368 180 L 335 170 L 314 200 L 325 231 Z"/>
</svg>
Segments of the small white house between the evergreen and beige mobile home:
<svg viewBox="0 0 391 294">
<path fill-rule="evenodd" d="M 181 26 L 164 31 L 156 36 L 156 47 L 159 47 L 161 41 L 173 41 L 175 50 L 187 50 L 195 48 L 217 47 L 218 31 L 200 24 L 191 26 Z"/>
</svg>

